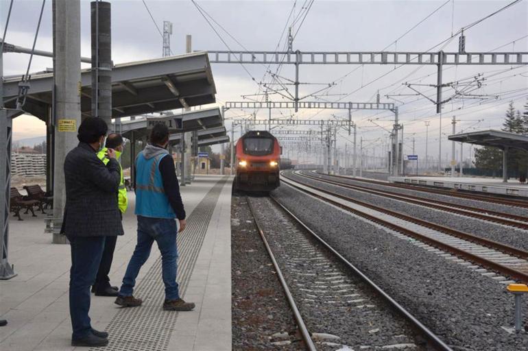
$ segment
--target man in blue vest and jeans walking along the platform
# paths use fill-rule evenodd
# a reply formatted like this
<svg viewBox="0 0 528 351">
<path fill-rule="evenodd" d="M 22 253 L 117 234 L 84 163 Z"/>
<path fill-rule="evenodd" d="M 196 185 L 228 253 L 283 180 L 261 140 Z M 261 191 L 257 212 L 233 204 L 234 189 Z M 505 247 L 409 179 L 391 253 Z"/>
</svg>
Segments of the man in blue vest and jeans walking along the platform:
<svg viewBox="0 0 528 351">
<path fill-rule="evenodd" d="M 185 210 L 176 178 L 176 169 L 167 152 L 169 128 L 156 124 L 150 132 L 149 144 L 136 158 L 135 184 L 136 215 L 138 219 L 137 244 L 128 263 L 123 285 L 115 300 L 119 306 L 140 306 L 143 302 L 132 295 L 136 277 L 147 261 L 154 241 L 161 252 L 162 276 L 165 284 L 166 311 L 191 311 L 195 304 L 180 298 L 176 270 L 178 268 L 177 232 L 185 229 Z M 180 223 L 180 230 L 176 220 Z"/>
</svg>

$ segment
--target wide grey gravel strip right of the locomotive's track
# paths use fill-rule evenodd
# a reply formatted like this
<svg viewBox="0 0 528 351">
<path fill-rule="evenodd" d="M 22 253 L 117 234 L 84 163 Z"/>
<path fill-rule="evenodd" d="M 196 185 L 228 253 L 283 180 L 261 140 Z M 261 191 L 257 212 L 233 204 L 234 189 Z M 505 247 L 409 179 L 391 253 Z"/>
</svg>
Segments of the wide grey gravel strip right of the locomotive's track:
<svg viewBox="0 0 528 351">
<path fill-rule="evenodd" d="M 514 317 L 504 285 L 285 184 L 272 194 L 453 350 L 528 349 L 525 332 L 501 328 Z"/>
</svg>

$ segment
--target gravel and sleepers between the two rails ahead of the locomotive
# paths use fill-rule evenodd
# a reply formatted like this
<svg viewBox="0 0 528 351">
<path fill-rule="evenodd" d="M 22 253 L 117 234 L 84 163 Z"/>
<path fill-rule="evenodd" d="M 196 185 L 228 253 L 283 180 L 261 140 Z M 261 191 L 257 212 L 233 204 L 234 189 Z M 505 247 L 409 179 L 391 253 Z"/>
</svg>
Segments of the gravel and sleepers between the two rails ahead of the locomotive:
<svg viewBox="0 0 528 351">
<path fill-rule="evenodd" d="M 268 197 L 250 198 L 317 350 L 425 350 L 407 321 Z M 322 339 L 322 340 L 320 340 Z"/>
</svg>

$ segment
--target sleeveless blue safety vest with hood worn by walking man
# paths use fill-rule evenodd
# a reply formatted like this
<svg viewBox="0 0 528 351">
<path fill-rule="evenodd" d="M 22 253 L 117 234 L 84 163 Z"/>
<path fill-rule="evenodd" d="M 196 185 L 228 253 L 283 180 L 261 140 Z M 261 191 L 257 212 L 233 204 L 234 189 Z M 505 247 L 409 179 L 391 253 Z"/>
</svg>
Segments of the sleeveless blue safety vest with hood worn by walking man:
<svg viewBox="0 0 528 351">
<path fill-rule="evenodd" d="M 163 189 L 160 160 L 169 155 L 164 150 L 152 158 L 140 152 L 136 158 L 136 215 L 152 218 L 176 218 Z M 170 157 L 170 156 L 169 156 Z"/>
</svg>

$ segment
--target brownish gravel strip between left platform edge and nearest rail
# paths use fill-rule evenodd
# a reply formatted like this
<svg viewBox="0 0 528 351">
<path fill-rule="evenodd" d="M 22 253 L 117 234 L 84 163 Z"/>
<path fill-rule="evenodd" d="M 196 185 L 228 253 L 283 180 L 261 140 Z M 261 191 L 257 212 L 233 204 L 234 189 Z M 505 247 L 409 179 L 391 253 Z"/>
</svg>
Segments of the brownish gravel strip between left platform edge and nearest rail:
<svg viewBox="0 0 528 351">
<path fill-rule="evenodd" d="M 304 350 L 245 197 L 237 195 L 231 205 L 231 252 L 232 349 Z"/>
</svg>

